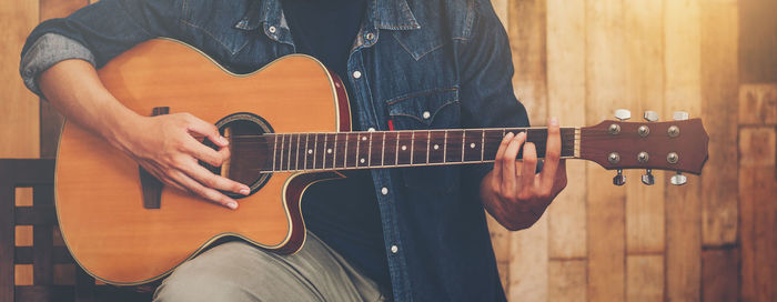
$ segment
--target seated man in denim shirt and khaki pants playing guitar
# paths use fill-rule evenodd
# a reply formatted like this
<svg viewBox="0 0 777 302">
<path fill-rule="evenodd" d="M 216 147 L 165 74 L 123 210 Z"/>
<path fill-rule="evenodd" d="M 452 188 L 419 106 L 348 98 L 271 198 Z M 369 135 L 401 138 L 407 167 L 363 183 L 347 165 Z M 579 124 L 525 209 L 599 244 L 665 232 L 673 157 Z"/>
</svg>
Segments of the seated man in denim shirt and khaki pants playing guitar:
<svg viewBox="0 0 777 302">
<path fill-rule="evenodd" d="M 21 73 L 33 92 L 165 184 L 236 211 L 220 190 L 244 193 L 245 184 L 198 165 L 229 157 L 212 124 L 185 113 L 141 117 L 97 77 L 95 68 L 157 37 L 234 72 L 312 54 L 346 84 L 355 130 L 528 125 L 488 0 L 101 0 L 32 32 Z M 155 300 L 504 300 L 483 207 L 511 230 L 539 219 L 566 185 L 555 119 L 549 133 L 536 174 L 534 145 L 508 133 L 494 164 L 377 169 L 313 185 L 303 198 L 311 240 L 300 253 L 225 243 L 178 268 Z"/>
</svg>

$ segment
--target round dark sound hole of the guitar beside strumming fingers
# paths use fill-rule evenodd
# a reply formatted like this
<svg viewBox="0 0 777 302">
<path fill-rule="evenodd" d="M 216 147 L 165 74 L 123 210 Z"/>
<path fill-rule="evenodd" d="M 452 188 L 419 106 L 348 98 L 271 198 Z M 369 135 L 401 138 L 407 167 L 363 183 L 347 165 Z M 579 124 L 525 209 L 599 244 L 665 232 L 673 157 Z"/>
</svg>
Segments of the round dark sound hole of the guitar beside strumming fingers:
<svg viewBox="0 0 777 302">
<path fill-rule="evenodd" d="M 214 174 L 222 175 L 244 183 L 251 188 L 251 194 L 264 185 L 272 173 L 262 171 L 272 170 L 272 142 L 266 141 L 265 133 L 272 133 L 270 124 L 259 115 L 252 113 L 234 113 L 223 118 L 215 124 L 219 131 L 230 141 L 230 159 L 221 167 L 213 167 L 203 161 L 200 164 Z M 216 149 L 215 144 L 204 139 L 203 143 Z M 223 192 L 231 198 L 243 198 L 242 194 Z"/>
</svg>

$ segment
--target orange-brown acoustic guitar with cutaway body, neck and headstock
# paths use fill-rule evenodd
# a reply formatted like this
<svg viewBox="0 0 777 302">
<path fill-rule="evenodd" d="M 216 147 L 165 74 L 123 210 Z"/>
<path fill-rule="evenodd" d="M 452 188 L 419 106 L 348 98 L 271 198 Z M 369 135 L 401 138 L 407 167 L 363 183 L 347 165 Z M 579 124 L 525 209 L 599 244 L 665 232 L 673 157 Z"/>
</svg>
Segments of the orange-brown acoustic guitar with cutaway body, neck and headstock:
<svg viewBox="0 0 777 302">
<path fill-rule="evenodd" d="M 305 241 L 301 197 L 312 183 L 351 169 L 493 162 L 506 132 L 527 133 L 545 153 L 546 128 L 351 131 L 342 82 L 322 63 L 292 54 L 251 74 L 234 74 L 196 49 L 157 39 L 99 70 L 104 85 L 140 114 L 190 112 L 230 140 L 231 159 L 214 173 L 251 188 L 232 211 L 162 187 L 123 152 L 67 122 L 56 170 L 62 236 L 74 260 L 94 278 L 133 285 L 158 280 L 214 241 L 236 236 L 276 253 Z M 562 157 L 622 169 L 676 171 L 672 183 L 699 174 L 708 137 L 699 119 L 678 113 L 658 122 L 617 120 L 562 128 Z M 204 139 L 203 139 L 204 140 Z M 204 141 L 210 144 L 210 142 Z M 412 169 L 412 168 L 406 168 Z"/>
</svg>

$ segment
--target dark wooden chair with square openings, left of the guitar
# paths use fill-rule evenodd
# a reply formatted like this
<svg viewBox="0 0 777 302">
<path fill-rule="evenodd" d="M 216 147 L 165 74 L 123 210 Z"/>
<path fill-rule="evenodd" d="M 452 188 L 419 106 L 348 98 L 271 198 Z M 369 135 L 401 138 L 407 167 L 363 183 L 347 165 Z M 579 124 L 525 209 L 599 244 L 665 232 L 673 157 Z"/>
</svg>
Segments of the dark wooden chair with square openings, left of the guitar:
<svg viewBox="0 0 777 302">
<path fill-rule="evenodd" d="M 73 262 L 59 235 L 53 181 L 52 159 L 0 159 L 0 302 L 151 301 L 150 291 L 98 285 Z"/>
</svg>

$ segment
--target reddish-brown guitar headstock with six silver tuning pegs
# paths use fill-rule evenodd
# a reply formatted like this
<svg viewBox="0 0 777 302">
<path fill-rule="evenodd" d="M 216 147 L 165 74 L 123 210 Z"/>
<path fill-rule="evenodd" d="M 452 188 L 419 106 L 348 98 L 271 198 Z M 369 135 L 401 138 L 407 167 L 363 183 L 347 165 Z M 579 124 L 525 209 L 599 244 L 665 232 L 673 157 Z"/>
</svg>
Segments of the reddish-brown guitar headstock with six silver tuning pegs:
<svg viewBox="0 0 777 302">
<path fill-rule="evenodd" d="M 652 184 L 650 170 L 702 173 L 709 142 L 702 119 L 688 119 L 687 113 L 676 112 L 674 121 L 658 122 L 657 114 L 648 111 L 647 121 L 626 122 L 628 115 L 628 111 L 618 110 L 619 120 L 582 128 L 579 158 L 608 170 L 646 169 L 649 180 L 643 175 L 645 184 Z M 685 177 L 679 173 L 675 177 L 673 183 L 685 183 Z M 620 171 L 613 182 L 625 183 Z"/>
</svg>

